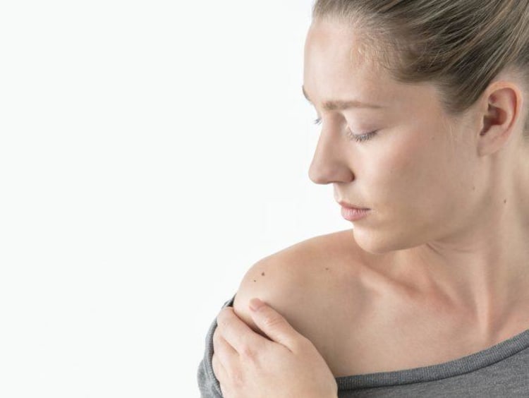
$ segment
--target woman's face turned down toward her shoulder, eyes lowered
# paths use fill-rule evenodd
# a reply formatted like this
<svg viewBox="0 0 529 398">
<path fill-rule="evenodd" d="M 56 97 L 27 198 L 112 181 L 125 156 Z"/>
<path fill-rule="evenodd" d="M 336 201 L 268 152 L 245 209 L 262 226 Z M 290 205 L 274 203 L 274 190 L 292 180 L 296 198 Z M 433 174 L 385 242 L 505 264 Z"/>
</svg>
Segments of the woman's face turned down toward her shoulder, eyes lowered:
<svg viewBox="0 0 529 398">
<path fill-rule="evenodd" d="M 478 120 L 451 119 L 434 85 L 397 83 L 360 44 L 355 30 L 337 22 L 316 20 L 308 32 L 303 90 L 322 119 L 310 179 L 333 183 L 336 201 L 371 209 L 354 222 L 366 251 L 441 239 L 475 217 Z M 353 100 L 376 107 L 324 107 Z"/>
</svg>

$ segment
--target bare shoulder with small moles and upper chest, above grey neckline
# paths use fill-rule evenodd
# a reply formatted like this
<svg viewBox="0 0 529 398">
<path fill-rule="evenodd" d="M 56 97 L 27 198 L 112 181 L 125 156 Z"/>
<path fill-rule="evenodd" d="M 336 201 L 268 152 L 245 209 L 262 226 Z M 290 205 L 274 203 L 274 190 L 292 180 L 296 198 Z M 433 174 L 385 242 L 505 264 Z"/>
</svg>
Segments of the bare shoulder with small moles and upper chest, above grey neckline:
<svg viewBox="0 0 529 398">
<path fill-rule="evenodd" d="M 310 339 L 336 377 L 428 366 L 484 349 L 473 340 L 474 325 L 462 329 L 461 317 L 392 281 L 385 271 L 391 260 L 391 253 L 363 251 L 352 230 L 315 236 L 250 267 L 233 309 L 263 334 L 248 308 L 261 298 Z"/>
</svg>

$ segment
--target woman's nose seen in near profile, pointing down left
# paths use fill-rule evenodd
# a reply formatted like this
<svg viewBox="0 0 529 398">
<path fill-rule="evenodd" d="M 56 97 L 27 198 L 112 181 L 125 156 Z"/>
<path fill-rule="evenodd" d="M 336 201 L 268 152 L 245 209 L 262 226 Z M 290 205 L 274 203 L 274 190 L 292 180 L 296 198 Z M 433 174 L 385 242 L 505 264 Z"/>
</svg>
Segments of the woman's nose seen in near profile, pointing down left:
<svg viewBox="0 0 529 398">
<path fill-rule="evenodd" d="M 330 131 L 320 134 L 308 176 L 313 183 L 327 184 L 337 182 L 351 182 L 354 175 L 346 162 L 346 154 L 340 145 L 341 140 L 332 137 Z"/>
</svg>

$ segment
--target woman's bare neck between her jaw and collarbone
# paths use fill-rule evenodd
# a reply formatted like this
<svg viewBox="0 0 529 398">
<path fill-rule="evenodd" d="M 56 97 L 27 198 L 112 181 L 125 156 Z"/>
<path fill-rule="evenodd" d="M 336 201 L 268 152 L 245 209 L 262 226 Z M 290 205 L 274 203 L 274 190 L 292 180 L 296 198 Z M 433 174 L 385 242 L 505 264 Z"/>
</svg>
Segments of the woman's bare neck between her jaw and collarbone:
<svg viewBox="0 0 529 398">
<path fill-rule="evenodd" d="M 527 157 L 509 156 L 517 159 L 509 170 L 490 167 L 484 199 L 464 229 L 396 252 L 392 272 L 398 283 L 464 310 L 484 333 L 529 304 L 529 169 Z"/>
</svg>

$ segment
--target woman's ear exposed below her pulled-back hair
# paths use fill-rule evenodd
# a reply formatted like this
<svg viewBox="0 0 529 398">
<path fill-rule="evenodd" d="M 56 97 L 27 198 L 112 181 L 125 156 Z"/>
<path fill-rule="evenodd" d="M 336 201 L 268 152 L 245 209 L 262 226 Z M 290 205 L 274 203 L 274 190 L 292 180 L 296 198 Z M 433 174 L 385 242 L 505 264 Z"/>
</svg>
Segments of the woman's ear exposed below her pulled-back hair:
<svg viewBox="0 0 529 398">
<path fill-rule="evenodd" d="M 487 155 L 499 150 L 512 135 L 520 119 L 522 92 L 513 83 L 492 83 L 483 96 L 480 109 L 479 151 Z"/>
</svg>

